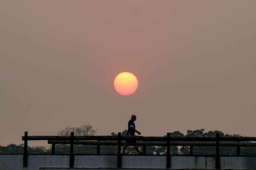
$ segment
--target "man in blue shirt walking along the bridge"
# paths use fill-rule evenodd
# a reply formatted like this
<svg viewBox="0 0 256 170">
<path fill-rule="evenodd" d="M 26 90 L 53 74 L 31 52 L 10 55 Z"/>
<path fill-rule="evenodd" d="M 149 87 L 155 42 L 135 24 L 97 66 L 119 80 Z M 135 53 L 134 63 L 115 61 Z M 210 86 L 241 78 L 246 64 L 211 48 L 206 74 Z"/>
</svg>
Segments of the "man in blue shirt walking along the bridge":
<svg viewBox="0 0 256 170">
<path fill-rule="evenodd" d="M 135 129 L 134 121 L 136 121 L 136 115 L 131 115 L 131 120 L 128 122 L 128 131 L 126 133 L 127 136 L 134 136 L 135 132 L 137 132 L 137 134 L 139 134 L 139 135 L 141 134 L 138 130 Z M 125 154 L 125 149 L 127 148 L 128 145 L 133 145 L 135 147 L 135 149 L 137 150 L 137 152 L 139 154 L 142 154 L 142 152 L 139 151 L 136 140 L 134 140 L 134 139 L 126 140 L 126 144 L 123 147 L 122 154 Z"/>
</svg>

